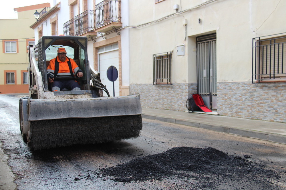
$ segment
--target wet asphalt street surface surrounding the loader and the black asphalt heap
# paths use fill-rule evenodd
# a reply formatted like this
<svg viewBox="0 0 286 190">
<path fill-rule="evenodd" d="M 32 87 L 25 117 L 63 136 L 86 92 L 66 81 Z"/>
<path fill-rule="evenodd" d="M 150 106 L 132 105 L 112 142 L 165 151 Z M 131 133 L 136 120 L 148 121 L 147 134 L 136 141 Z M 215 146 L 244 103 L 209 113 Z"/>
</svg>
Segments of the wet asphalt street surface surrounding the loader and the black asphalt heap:
<svg viewBox="0 0 286 190">
<path fill-rule="evenodd" d="M 277 184 L 279 189 L 286 189 L 285 145 L 148 119 L 143 119 L 142 134 L 137 139 L 31 151 L 20 135 L 18 99 L 0 95 L 0 140 L 18 189 L 197 189 L 199 181 L 175 176 L 122 183 L 102 176 L 98 170 L 177 146 L 212 147 L 231 155 L 250 155 L 255 162 L 281 175 L 284 181 L 272 181 L 273 189 Z M 258 189 L 252 181 L 243 183 Z M 222 184 L 219 189 L 242 189 L 230 185 L 233 184 Z"/>
</svg>

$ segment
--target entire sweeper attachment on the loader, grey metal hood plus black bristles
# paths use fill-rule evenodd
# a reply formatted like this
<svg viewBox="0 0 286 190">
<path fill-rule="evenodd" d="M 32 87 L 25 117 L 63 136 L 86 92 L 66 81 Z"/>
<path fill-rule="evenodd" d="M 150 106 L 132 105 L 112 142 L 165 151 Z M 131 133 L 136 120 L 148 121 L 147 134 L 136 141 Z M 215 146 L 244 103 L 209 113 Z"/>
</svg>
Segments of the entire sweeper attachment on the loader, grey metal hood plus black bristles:
<svg viewBox="0 0 286 190">
<path fill-rule="evenodd" d="M 139 95 L 64 100 L 27 97 L 20 99 L 19 107 L 23 139 L 34 150 L 137 138 L 142 129 Z"/>
</svg>

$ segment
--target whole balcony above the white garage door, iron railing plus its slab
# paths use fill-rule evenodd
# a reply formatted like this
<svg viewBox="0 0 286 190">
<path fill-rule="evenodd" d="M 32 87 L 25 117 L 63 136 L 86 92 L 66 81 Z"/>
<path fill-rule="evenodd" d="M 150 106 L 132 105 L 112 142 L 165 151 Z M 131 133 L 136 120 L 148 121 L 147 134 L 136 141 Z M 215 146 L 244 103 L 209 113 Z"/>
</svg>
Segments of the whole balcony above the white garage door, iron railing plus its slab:
<svg viewBox="0 0 286 190">
<path fill-rule="evenodd" d="M 104 0 L 95 6 L 96 32 L 107 32 L 113 27 L 120 28 L 122 26 L 120 3 L 120 0 Z"/>
</svg>

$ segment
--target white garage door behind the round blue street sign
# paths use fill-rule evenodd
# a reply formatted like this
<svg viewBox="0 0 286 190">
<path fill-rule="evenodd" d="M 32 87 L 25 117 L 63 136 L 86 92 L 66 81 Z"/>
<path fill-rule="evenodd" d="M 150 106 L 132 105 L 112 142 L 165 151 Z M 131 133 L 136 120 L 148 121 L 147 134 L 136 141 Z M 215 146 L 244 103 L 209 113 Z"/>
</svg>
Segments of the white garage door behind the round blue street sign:
<svg viewBox="0 0 286 190">
<path fill-rule="evenodd" d="M 106 85 L 106 88 L 110 96 L 113 96 L 113 82 L 108 80 L 106 71 L 108 67 L 114 66 L 118 71 L 118 78 L 114 81 L 114 94 L 119 96 L 119 62 L 118 62 L 118 44 L 105 46 L 98 49 L 99 71 L 102 84 Z M 104 96 L 107 96 L 103 92 Z"/>
</svg>

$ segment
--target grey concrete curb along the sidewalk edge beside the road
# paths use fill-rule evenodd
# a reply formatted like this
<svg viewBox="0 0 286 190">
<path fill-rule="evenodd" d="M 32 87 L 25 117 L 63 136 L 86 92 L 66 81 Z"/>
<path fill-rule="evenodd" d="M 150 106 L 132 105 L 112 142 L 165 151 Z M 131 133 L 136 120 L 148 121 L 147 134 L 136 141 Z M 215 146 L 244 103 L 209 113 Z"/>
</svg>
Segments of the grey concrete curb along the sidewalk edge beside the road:
<svg viewBox="0 0 286 190">
<path fill-rule="evenodd" d="M 197 127 L 197 128 L 203 128 L 203 129 L 233 134 L 237 136 L 243 136 L 247 138 L 254 138 L 254 139 L 265 140 L 269 142 L 280 143 L 280 144 L 286 144 L 285 135 L 265 133 L 265 132 L 255 131 L 255 130 L 247 130 L 247 129 L 241 129 L 241 128 L 236 128 L 236 127 L 223 126 L 223 125 L 208 124 L 208 123 L 203 123 L 203 122 L 194 122 L 194 121 L 189 121 L 189 120 L 174 119 L 174 118 L 168 118 L 168 117 L 162 117 L 162 116 L 154 116 L 154 115 L 148 115 L 148 114 L 143 114 L 143 113 L 142 113 L 142 118 L 158 120 L 158 121 L 163 121 L 163 122 L 168 122 L 168 123 L 181 124 L 181 125 L 192 126 L 192 127 Z"/>
</svg>

